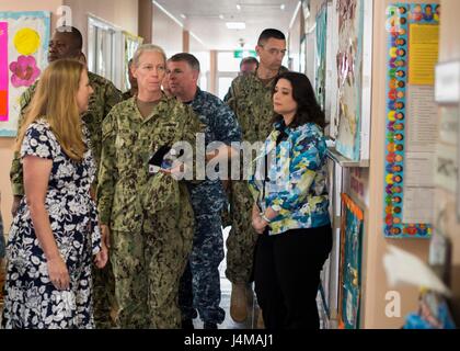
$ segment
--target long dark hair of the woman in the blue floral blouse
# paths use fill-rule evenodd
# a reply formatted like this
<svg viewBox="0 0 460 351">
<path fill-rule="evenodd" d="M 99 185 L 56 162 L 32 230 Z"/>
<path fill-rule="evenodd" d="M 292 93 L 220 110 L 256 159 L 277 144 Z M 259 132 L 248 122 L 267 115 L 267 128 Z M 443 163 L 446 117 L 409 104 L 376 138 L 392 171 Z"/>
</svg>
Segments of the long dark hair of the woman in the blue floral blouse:
<svg viewBox="0 0 460 351">
<path fill-rule="evenodd" d="M 292 99 L 297 102 L 297 112 L 289 126 L 296 128 L 306 123 L 315 123 L 321 128 L 324 128 L 326 125 L 325 115 L 317 101 L 313 87 L 308 77 L 298 72 L 280 73 L 273 83 L 272 99 L 279 79 L 286 79 L 290 82 L 292 86 Z M 277 123 L 280 121 L 283 121 L 283 116 L 275 113 L 272 122 Z"/>
</svg>

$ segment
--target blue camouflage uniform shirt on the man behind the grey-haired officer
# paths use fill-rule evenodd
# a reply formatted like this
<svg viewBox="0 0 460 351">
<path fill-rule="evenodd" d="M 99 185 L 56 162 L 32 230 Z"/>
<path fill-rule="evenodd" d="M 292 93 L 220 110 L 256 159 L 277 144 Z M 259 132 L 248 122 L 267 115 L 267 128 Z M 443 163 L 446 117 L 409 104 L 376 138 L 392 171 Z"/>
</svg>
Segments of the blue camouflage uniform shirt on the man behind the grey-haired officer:
<svg viewBox="0 0 460 351">
<path fill-rule="evenodd" d="M 189 103 L 193 111 L 206 125 L 205 145 L 220 141 L 228 146 L 241 141 L 241 128 L 233 112 L 219 98 L 202 91 Z M 199 184 L 189 186 L 195 215 L 220 212 L 227 202 L 227 195 L 219 179 L 206 179 Z"/>
</svg>

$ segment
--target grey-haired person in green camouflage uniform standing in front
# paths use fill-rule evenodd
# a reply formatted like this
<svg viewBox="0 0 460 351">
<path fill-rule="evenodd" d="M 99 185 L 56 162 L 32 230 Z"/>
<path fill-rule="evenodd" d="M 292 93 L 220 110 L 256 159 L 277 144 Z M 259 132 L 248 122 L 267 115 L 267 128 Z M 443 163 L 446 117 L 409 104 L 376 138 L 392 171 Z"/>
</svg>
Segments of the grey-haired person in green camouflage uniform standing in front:
<svg viewBox="0 0 460 351">
<path fill-rule="evenodd" d="M 181 327 L 179 284 L 192 250 L 194 214 L 185 180 L 173 177 L 179 167 L 157 172 L 149 163 L 177 141 L 194 149 L 204 128 L 189 106 L 161 91 L 165 60 L 159 46 L 137 49 L 138 94 L 117 104 L 102 126 L 97 208 L 111 237 L 120 328 Z"/>
</svg>

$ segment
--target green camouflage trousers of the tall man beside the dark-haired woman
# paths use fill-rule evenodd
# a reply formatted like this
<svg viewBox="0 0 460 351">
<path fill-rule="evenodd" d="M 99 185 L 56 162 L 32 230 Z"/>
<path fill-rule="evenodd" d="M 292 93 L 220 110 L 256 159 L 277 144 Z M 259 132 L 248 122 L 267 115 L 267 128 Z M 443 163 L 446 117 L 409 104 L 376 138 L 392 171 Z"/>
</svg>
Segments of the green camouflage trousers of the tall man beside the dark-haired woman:
<svg viewBox="0 0 460 351">
<path fill-rule="evenodd" d="M 232 181 L 230 190 L 231 230 L 227 238 L 226 276 L 234 284 L 253 281 L 257 234 L 252 227 L 253 197 L 245 181 Z"/>
</svg>

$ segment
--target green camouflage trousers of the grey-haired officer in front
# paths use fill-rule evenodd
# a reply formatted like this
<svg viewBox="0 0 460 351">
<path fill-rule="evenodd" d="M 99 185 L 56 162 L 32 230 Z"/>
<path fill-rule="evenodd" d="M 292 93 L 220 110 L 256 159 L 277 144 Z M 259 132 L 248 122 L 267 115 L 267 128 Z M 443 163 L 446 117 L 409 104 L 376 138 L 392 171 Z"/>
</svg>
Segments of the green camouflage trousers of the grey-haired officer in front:
<svg viewBox="0 0 460 351">
<path fill-rule="evenodd" d="M 171 214 L 152 216 L 150 233 L 112 231 L 115 324 L 118 328 L 181 328 L 179 283 L 194 227 L 177 228 Z"/>
</svg>

